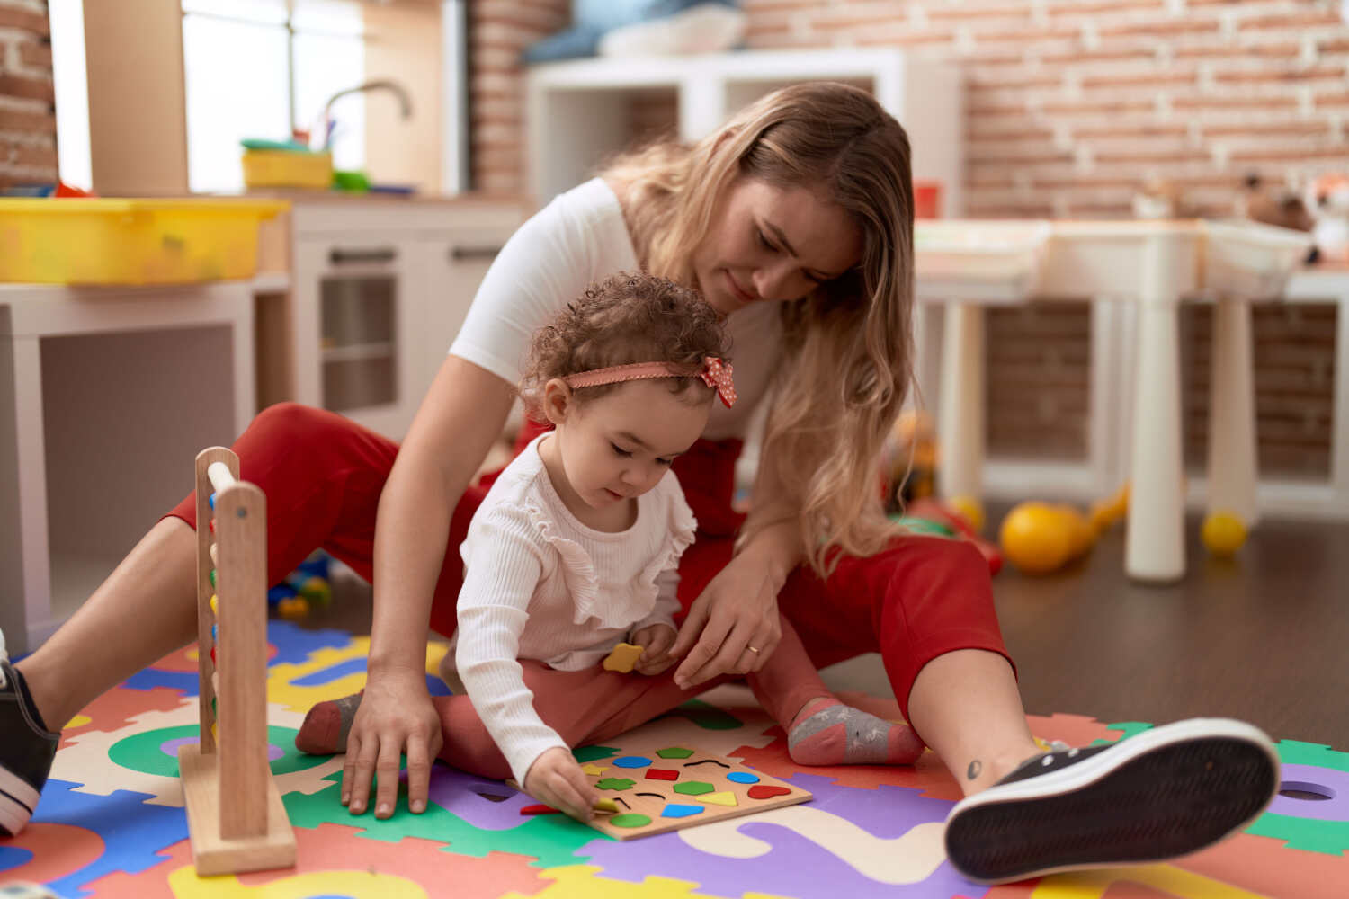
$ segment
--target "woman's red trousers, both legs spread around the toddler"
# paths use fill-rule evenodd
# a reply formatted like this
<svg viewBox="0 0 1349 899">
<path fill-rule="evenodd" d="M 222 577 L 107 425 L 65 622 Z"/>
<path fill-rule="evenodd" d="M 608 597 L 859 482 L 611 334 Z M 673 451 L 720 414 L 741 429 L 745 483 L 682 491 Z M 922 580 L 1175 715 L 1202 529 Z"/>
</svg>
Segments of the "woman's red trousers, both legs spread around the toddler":
<svg viewBox="0 0 1349 899">
<path fill-rule="evenodd" d="M 537 431 L 525 429 L 517 452 Z M 375 509 L 398 445 L 333 412 L 281 403 L 252 421 L 233 445 L 240 477 L 267 495 L 267 578 L 277 584 L 316 547 L 374 580 Z M 674 461 L 697 516 L 697 539 L 680 561 L 679 598 L 688 607 L 731 558 L 743 520 L 731 511 L 739 441 L 699 441 Z M 463 581 L 459 546 L 492 477 L 469 487 L 451 520 L 445 565 L 436 582 L 430 625 L 455 632 Z M 171 512 L 196 527 L 196 501 Z M 870 557 L 843 557 L 823 580 L 799 566 L 778 593 L 811 660 L 824 667 L 880 652 L 900 709 L 924 664 L 944 652 L 1002 646 L 989 567 L 969 543 L 900 536 Z"/>
</svg>

